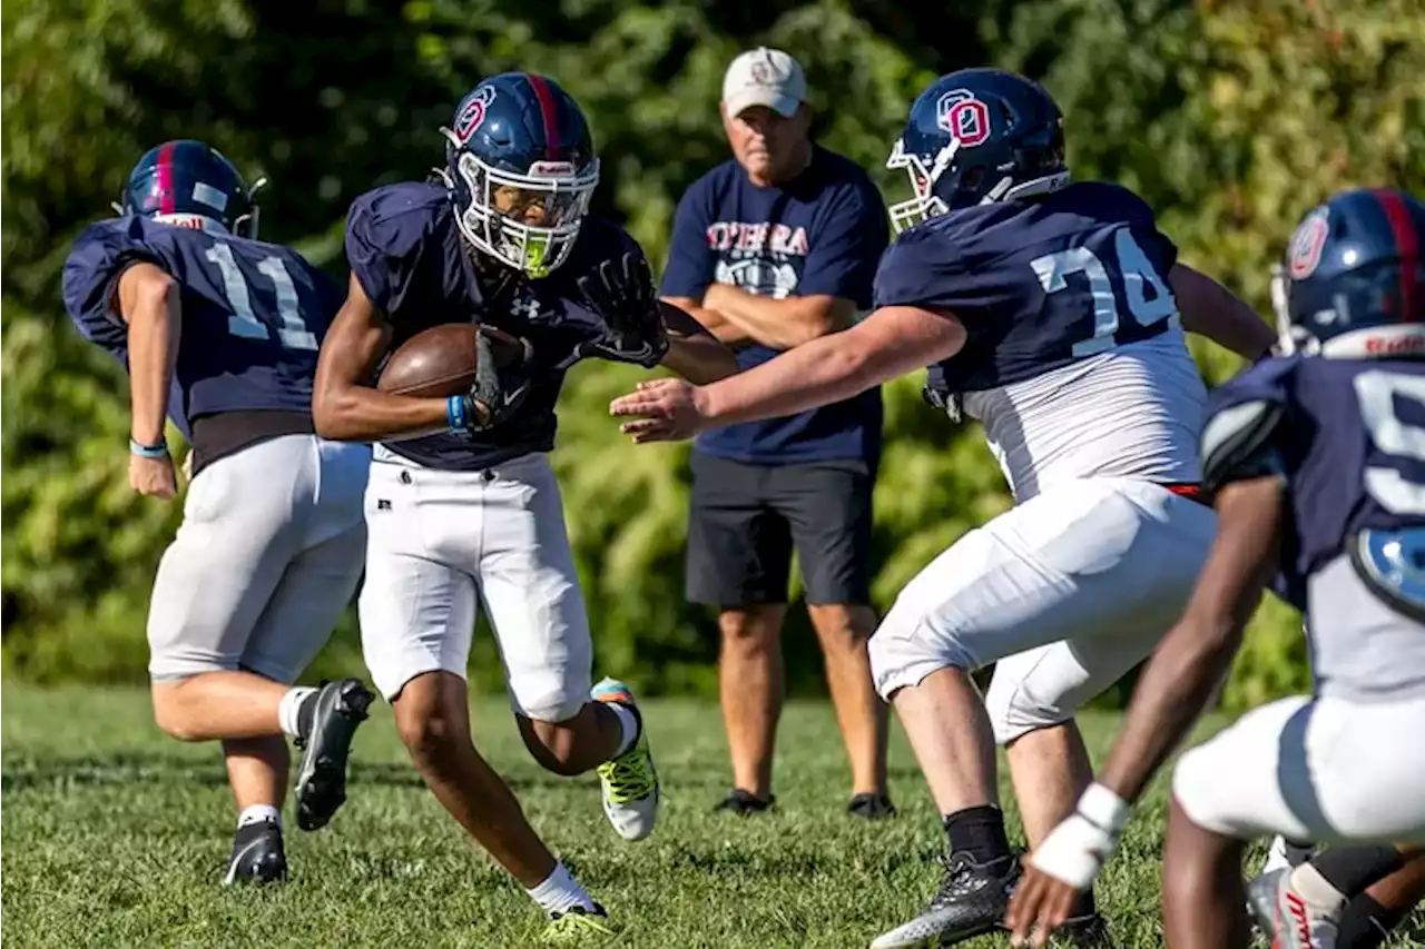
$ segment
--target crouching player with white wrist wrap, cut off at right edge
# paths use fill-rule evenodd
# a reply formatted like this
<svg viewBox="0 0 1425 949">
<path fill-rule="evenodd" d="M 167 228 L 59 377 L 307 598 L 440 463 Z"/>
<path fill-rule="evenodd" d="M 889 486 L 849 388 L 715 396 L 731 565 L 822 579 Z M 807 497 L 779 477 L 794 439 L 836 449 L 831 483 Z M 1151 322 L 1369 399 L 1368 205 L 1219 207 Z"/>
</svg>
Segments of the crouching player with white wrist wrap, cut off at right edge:
<svg viewBox="0 0 1425 949">
<path fill-rule="evenodd" d="M 1297 228 L 1273 294 L 1281 349 L 1213 392 L 1203 466 L 1217 539 L 1143 673 L 1099 782 L 1033 854 L 1010 911 L 1042 945 L 1113 851 L 1130 802 L 1227 675 L 1263 590 L 1311 617 L 1315 694 L 1186 752 L 1163 854 L 1171 949 L 1247 946 L 1247 841 L 1425 839 L 1425 205 L 1347 191 Z M 1335 946 L 1348 892 L 1278 876 L 1278 946 Z M 1291 898 L 1288 891 L 1294 886 Z M 1347 889 L 1351 889 L 1347 886 Z"/>
</svg>

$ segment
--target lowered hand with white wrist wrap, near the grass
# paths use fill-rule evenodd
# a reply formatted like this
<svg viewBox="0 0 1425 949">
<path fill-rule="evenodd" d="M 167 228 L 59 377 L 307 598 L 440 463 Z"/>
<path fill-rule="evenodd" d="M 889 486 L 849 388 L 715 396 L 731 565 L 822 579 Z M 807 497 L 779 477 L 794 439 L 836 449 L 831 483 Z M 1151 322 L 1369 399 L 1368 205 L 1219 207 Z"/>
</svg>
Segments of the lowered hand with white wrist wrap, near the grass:
<svg viewBox="0 0 1425 949">
<path fill-rule="evenodd" d="M 1077 812 L 1056 826 L 1025 858 L 1025 875 L 1005 916 L 1010 945 L 1049 945 L 1049 935 L 1069 919 L 1079 895 L 1093 886 L 1116 844 L 1117 834 Z"/>
</svg>

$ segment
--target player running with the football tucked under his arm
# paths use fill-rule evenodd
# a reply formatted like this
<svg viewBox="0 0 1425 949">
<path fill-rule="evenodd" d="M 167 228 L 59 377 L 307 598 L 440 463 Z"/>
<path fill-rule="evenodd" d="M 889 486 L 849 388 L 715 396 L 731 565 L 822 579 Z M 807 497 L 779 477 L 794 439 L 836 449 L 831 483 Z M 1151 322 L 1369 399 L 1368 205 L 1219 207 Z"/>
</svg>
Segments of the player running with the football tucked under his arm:
<svg viewBox="0 0 1425 949">
<path fill-rule="evenodd" d="M 589 217 L 598 160 L 583 113 L 554 81 L 487 78 L 442 133 L 445 184 L 388 185 L 352 204 L 346 304 L 318 366 L 318 430 L 378 443 L 362 647 L 420 777 L 550 913 L 550 936 L 607 932 L 604 909 L 470 741 L 476 608 L 499 641 L 530 754 L 561 775 L 597 768 L 614 829 L 647 836 L 658 778 L 633 695 L 591 683 L 589 620 L 547 457 L 554 402 L 564 370 L 586 355 L 700 380 L 737 363 L 690 316 L 664 326 L 640 247 Z M 493 326 L 522 339 L 526 358 L 489 372 L 497 362 L 482 331 L 487 372 L 470 393 L 372 388 L 386 353 L 442 323 Z"/>
</svg>

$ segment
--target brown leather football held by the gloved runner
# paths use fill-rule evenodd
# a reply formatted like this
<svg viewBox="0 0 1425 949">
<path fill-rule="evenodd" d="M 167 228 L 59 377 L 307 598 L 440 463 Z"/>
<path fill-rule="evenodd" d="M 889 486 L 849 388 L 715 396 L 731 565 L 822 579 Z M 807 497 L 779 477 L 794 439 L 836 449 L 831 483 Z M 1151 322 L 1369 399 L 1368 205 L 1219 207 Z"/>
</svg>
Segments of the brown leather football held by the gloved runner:
<svg viewBox="0 0 1425 949">
<path fill-rule="evenodd" d="M 442 323 L 425 329 L 390 353 L 376 388 L 395 395 L 446 398 L 469 392 L 477 366 L 475 323 Z M 504 331 L 486 326 L 496 366 L 524 358 L 524 346 Z"/>
</svg>

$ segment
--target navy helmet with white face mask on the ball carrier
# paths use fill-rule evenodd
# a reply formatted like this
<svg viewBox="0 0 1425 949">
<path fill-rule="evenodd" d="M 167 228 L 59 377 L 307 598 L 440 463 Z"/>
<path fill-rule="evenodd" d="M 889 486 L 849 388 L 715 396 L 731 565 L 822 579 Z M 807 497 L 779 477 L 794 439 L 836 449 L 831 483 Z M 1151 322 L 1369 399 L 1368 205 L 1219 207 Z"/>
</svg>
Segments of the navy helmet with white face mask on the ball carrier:
<svg viewBox="0 0 1425 949">
<path fill-rule="evenodd" d="M 460 100 L 443 178 L 477 249 L 544 276 L 569 258 L 598 185 L 589 123 L 550 78 L 502 73 Z"/>
</svg>

